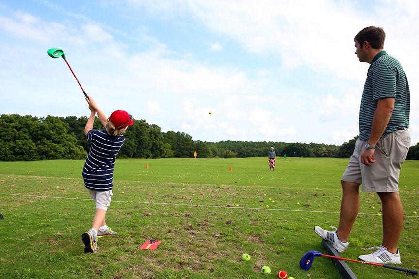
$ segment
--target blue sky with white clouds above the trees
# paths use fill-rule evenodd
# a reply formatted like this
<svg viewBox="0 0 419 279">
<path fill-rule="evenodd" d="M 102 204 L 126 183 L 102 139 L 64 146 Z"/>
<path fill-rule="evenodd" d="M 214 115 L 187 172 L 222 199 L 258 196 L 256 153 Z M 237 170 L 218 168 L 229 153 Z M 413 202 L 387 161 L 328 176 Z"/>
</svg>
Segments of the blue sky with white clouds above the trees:
<svg viewBox="0 0 419 279">
<path fill-rule="evenodd" d="M 358 134 L 369 67 L 353 38 L 375 25 L 407 74 L 415 144 L 418 18 L 413 0 L 0 0 L 0 113 L 89 115 L 47 55 L 61 48 L 107 115 L 193 140 L 340 145 Z"/>
</svg>

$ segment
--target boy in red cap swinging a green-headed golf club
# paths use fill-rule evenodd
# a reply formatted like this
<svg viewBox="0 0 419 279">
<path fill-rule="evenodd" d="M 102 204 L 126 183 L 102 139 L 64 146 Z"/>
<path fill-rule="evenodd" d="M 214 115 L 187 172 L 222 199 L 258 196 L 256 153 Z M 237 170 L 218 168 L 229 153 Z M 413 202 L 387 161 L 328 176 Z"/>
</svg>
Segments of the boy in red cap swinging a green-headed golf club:
<svg viewBox="0 0 419 279">
<path fill-rule="evenodd" d="M 92 228 L 82 235 L 85 253 L 97 251 L 97 237 L 114 235 L 105 221 L 106 212 L 111 203 L 113 170 L 115 158 L 125 141 L 128 126 L 134 124 L 133 117 L 123 110 L 114 111 L 109 118 L 97 107 L 92 97 L 86 98 L 89 104 L 90 117 L 84 128 L 87 140 L 92 143 L 83 168 L 84 186 L 96 203 L 96 214 Z M 104 130 L 93 129 L 97 114 Z"/>
</svg>

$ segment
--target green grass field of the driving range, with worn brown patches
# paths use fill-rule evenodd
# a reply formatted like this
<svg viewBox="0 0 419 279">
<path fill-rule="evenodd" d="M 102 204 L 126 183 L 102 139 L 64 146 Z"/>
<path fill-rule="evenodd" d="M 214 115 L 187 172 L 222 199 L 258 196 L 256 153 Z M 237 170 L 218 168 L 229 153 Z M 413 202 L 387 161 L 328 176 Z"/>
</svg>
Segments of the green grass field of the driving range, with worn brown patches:
<svg viewBox="0 0 419 279">
<path fill-rule="evenodd" d="M 81 177 L 84 160 L 0 162 L 0 278 L 256 279 L 280 270 L 295 279 L 340 278 L 327 258 L 308 271 L 298 263 L 309 250 L 324 253 L 315 225 L 338 226 L 347 162 L 279 158 L 269 171 L 266 158 L 117 160 L 107 224 L 119 234 L 100 238 L 96 254 L 84 254 L 81 242 L 95 212 Z M 415 270 L 418 186 L 419 161 L 406 161 L 400 267 Z M 342 257 L 357 259 L 381 244 L 380 212 L 377 195 L 361 192 Z M 140 250 L 151 238 L 162 241 L 157 250 Z M 359 279 L 409 276 L 347 264 Z M 271 275 L 260 273 L 265 265 Z"/>
</svg>

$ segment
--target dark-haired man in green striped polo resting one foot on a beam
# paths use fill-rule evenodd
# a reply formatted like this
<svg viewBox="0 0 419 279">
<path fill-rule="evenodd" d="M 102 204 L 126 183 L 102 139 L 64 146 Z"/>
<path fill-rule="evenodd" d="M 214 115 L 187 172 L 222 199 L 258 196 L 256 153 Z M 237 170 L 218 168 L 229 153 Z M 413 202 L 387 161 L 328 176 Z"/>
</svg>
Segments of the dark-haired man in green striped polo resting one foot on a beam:
<svg viewBox="0 0 419 279">
<path fill-rule="evenodd" d="M 314 231 L 339 252 L 348 247 L 348 237 L 359 211 L 359 186 L 377 192 L 383 206 L 383 241 L 375 252 L 359 256 L 370 263 L 401 263 L 397 249 L 403 226 L 399 174 L 410 147 L 410 92 L 400 63 L 384 48 L 386 34 L 370 26 L 354 38 L 360 62 L 370 64 L 359 111 L 359 139 L 342 176 L 342 203 L 338 229 Z"/>
</svg>

